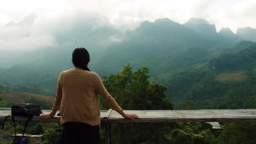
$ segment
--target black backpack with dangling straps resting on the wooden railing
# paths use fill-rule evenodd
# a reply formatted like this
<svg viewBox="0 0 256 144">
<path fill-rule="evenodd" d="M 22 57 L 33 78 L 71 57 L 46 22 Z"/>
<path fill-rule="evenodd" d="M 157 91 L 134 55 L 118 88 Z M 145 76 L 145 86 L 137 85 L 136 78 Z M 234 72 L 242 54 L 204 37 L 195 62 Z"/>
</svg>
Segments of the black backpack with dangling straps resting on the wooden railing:
<svg viewBox="0 0 256 144">
<path fill-rule="evenodd" d="M 12 116 L 12 122 L 15 128 L 15 139 L 13 139 L 13 144 L 20 144 L 21 138 L 17 138 L 16 136 L 16 125 L 15 125 L 15 119 L 14 116 L 22 116 L 22 117 L 28 117 L 28 120 L 26 121 L 26 124 L 24 126 L 24 130 L 22 133 L 22 138 L 24 137 L 25 130 L 27 128 L 28 122 L 33 118 L 33 116 L 39 116 L 42 114 L 42 108 L 40 105 L 37 104 L 14 104 L 12 105 L 12 114 L 9 116 Z M 7 117 L 4 118 L 2 129 L 4 129 L 4 122 L 6 121 Z"/>
</svg>

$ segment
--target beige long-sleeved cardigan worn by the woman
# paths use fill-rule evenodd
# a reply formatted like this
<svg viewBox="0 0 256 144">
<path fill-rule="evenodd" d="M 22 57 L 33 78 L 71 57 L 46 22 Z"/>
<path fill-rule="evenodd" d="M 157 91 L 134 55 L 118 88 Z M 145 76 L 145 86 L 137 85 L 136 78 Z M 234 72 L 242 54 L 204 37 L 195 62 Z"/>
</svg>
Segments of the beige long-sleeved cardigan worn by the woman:
<svg viewBox="0 0 256 144">
<path fill-rule="evenodd" d="M 98 74 L 77 68 L 63 71 L 58 79 L 51 116 L 55 116 L 61 107 L 61 123 L 82 122 L 91 126 L 100 125 L 98 94 L 119 114 L 124 114 L 105 89 Z"/>
</svg>

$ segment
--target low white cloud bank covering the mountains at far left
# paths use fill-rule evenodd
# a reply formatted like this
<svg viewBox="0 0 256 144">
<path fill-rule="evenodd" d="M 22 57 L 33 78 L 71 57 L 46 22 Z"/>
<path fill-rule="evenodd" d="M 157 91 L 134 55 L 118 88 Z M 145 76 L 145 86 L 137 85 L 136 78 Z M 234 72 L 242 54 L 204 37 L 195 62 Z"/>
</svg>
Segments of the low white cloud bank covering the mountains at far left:
<svg viewBox="0 0 256 144">
<path fill-rule="evenodd" d="M 55 45 L 55 38 L 47 31 L 38 31 L 31 23 L 9 23 L 0 27 L 0 51 L 33 50 Z M 36 30 L 35 30 L 36 29 Z"/>
</svg>

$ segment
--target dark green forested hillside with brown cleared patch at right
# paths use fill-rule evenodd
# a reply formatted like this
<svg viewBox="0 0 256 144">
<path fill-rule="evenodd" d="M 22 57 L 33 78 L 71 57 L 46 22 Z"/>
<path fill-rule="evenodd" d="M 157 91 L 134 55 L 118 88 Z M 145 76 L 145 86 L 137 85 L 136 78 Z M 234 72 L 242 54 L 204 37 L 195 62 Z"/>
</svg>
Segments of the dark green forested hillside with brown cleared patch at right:
<svg viewBox="0 0 256 144">
<path fill-rule="evenodd" d="M 185 101 L 198 108 L 256 108 L 250 102 L 256 95 L 256 43 L 243 41 L 231 48 L 169 77 L 167 95 L 176 108 Z"/>
</svg>

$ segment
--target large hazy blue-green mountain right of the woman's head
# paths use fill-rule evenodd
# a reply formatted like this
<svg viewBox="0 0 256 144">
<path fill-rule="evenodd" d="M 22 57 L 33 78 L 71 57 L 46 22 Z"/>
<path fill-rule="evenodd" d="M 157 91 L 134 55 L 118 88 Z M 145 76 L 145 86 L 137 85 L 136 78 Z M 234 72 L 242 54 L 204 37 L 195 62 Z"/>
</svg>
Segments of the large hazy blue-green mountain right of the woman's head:
<svg viewBox="0 0 256 144">
<path fill-rule="evenodd" d="M 113 74 L 131 62 L 135 69 L 141 65 L 150 67 L 153 79 L 164 79 L 179 68 L 205 61 L 216 48 L 239 42 L 216 33 L 214 25 L 199 20 L 191 19 L 187 24 L 207 25 L 207 36 L 168 18 L 144 21 L 135 30 L 127 31 L 121 42 L 107 47 L 96 70 L 104 75 Z"/>
</svg>

